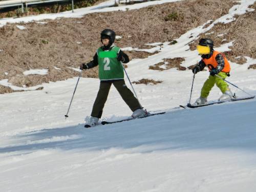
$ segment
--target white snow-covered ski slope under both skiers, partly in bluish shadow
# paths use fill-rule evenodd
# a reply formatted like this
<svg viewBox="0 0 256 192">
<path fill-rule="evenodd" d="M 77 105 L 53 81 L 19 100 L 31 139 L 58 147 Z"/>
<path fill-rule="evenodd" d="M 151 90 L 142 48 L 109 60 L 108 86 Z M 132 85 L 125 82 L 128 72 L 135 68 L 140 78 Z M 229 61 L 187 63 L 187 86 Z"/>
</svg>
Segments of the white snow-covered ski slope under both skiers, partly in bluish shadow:
<svg viewBox="0 0 256 192">
<path fill-rule="evenodd" d="M 213 24 L 232 20 L 234 12 L 252 11 L 253 2 L 241 1 Z M 84 129 L 99 86 L 91 78 L 80 79 L 67 120 L 77 78 L 43 84 L 40 91 L 0 95 L 1 191 L 256 191 L 256 99 L 180 109 L 189 99 L 191 71 L 148 70 L 164 58 L 184 57 L 185 67 L 196 63 L 200 57 L 187 43 L 211 27 L 188 31 L 175 45 L 164 42 L 161 50 L 156 43 L 158 54 L 129 63 L 132 81 L 163 80 L 134 88 L 148 111 L 167 111 L 164 115 Z M 254 63 L 249 57 L 245 65 L 231 63 L 228 81 L 256 95 L 256 71 L 247 70 Z M 207 76 L 207 71 L 196 75 L 192 101 Z M 215 87 L 209 100 L 220 95 Z M 130 115 L 112 88 L 103 119 Z"/>
</svg>

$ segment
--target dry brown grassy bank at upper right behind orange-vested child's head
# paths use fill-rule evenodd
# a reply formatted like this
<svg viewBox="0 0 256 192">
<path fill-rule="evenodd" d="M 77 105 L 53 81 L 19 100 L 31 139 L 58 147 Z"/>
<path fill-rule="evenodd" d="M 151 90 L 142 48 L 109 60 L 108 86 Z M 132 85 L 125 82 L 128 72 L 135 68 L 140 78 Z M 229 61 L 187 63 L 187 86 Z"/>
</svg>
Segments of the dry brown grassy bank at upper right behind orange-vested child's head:
<svg viewBox="0 0 256 192">
<path fill-rule="evenodd" d="M 256 9 L 256 3 L 251 8 Z M 256 58 L 256 11 L 248 12 L 244 15 L 237 15 L 236 21 L 229 24 L 218 24 L 200 38 L 211 38 L 215 42 L 215 47 L 219 47 L 226 42 L 233 41 L 232 51 L 224 52 L 228 60 L 243 64 L 246 62 L 244 56 Z M 218 36 L 224 34 L 223 36 Z M 226 40 L 224 40 L 226 39 Z M 190 49 L 195 50 L 198 41 L 190 44 Z"/>
</svg>

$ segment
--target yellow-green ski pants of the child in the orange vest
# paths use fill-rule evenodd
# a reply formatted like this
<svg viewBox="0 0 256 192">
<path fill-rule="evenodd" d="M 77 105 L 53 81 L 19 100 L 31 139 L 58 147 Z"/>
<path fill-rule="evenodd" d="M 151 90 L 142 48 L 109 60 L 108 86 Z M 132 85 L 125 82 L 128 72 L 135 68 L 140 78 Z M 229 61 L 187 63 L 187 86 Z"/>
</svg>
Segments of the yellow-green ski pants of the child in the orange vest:
<svg viewBox="0 0 256 192">
<path fill-rule="evenodd" d="M 227 74 L 224 72 L 220 72 L 218 73 L 218 75 L 221 76 L 223 79 L 227 77 Z M 225 91 L 229 90 L 228 84 L 224 80 L 217 76 L 209 75 L 208 79 L 204 82 L 204 86 L 201 90 L 201 97 L 207 98 L 210 90 L 214 87 L 215 83 L 222 93 L 225 93 Z"/>
</svg>

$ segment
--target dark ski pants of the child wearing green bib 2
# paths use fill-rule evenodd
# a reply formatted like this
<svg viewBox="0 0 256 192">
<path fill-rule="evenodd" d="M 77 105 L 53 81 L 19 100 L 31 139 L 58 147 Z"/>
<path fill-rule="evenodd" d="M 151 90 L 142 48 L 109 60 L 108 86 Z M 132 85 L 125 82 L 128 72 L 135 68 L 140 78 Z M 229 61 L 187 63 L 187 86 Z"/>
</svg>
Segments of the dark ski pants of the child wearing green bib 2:
<svg viewBox="0 0 256 192">
<path fill-rule="evenodd" d="M 138 99 L 133 95 L 130 89 L 126 87 L 124 80 L 117 81 L 100 81 L 99 91 L 93 104 L 93 110 L 91 116 L 100 118 L 104 108 L 106 99 L 108 98 L 111 85 L 114 84 L 115 88 L 123 98 L 124 102 L 134 112 L 140 109 L 140 103 Z"/>
</svg>

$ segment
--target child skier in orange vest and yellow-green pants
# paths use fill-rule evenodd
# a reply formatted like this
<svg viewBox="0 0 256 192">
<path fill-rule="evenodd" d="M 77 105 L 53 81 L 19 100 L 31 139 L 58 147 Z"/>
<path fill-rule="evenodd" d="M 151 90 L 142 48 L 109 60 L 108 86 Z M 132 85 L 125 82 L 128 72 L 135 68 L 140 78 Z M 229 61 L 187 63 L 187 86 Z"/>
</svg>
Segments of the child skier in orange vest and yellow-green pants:
<svg viewBox="0 0 256 192">
<path fill-rule="evenodd" d="M 230 91 L 228 84 L 223 80 L 227 76 L 230 76 L 230 65 L 225 55 L 219 51 L 214 50 L 214 41 L 209 38 L 200 39 L 197 50 L 201 55 L 202 59 L 193 68 L 193 73 L 196 74 L 199 71 L 202 71 L 205 66 L 207 66 L 210 75 L 208 79 L 204 82 L 200 97 L 193 105 L 206 104 L 210 90 L 212 87 L 214 87 L 215 84 L 223 93 L 219 100 L 228 100 L 233 98 L 233 94 Z M 217 77 L 217 74 L 223 79 Z"/>
</svg>

